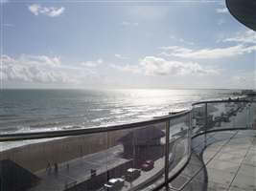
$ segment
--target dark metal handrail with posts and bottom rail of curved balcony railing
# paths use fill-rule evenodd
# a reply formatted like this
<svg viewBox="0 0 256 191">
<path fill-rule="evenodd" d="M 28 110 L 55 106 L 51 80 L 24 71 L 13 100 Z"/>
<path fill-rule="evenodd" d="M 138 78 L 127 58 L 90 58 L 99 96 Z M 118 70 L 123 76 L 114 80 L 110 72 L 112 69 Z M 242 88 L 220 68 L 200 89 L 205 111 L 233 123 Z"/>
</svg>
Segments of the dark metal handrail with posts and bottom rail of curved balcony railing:
<svg viewBox="0 0 256 191">
<path fill-rule="evenodd" d="M 227 100 L 209 100 L 209 101 L 200 101 L 193 103 L 192 106 L 196 106 L 199 104 L 206 104 L 207 103 L 230 103 L 230 102 L 254 102 L 254 101 L 249 101 L 245 99 L 227 99 Z M 127 124 L 121 124 L 121 125 L 112 125 L 112 126 L 105 126 L 105 127 L 95 127 L 95 128 L 86 128 L 86 129 L 71 129 L 71 130 L 61 130 L 61 131 L 44 131 L 44 132 L 30 132 L 30 133 L 16 133 L 16 134 L 4 134 L 0 135 L 0 142 L 4 141 L 14 141 L 14 140 L 25 140 L 25 139 L 38 139 L 38 138 L 62 138 L 62 137 L 72 137 L 72 136 L 81 136 L 81 135 L 91 135 L 91 134 L 97 134 L 97 133 L 107 133 L 107 132 L 112 132 L 112 131 L 118 131 L 118 130 L 128 130 L 128 129 L 133 129 L 133 128 L 139 128 L 143 126 L 150 126 L 154 125 L 156 123 L 161 123 L 165 122 L 166 123 L 166 129 L 172 128 L 170 127 L 170 120 L 173 120 L 178 117 L 184 117 L 187 115 L 190 115 L 190 120 L 191 120 L 191 115 L 192 115 L 193 109 L 191 110 L 186 110 L 181 113 L 175 114 L 175 115 L 168 115 L 165 117 L 157 117 L 153 118 L 151 120 L 146 120 L 146 121 L 140 121 L 140 122 L 133 122 L 133 123 L 127 123 Z M 191 125 L 190 121 L 190 125 Z M 190 128 L 191 129 L 191 128 Z M 242 128 L 239 128 L 242 129 Z M 244 128 L 243 128 L 244 129 Z M 169 129 L 170 130 L 170 129 Z M 208 130 L 208 131 L 203 131 L 203 132 L 198 132 L 196 135 L 193 135 L 190 138 L 196 138 L 200 135 L 207 134 L 207 133 L 212 133 L 212 132 L 217 132 L 217 131 L 230 131 L 232 128 L 228 128 L 225 130 Z M 237 130 L 237 128 L 236 128 Z M 169 135 L 168 131 L 167 134 Z M 166 137 L 166 141 L 168 141 L 169 137 Z M 190 145 L 191 146 L 191 145 Z M 191 148 L 190 148 L 191 150 Z M 167 153 L 166 156 L 169 156 L 169 149 L 167 147 Z M 189 152 L 189 156 L 186 159 L 186 162 L 175 172 L 175 174 L 172 177 L 169 177 L 169 167 L 167 164 L 169 164 L 169 161 L 165 161 L 165 180 L 160 183 L 158 186 L 156 186 L 153 191 L 158 190 L 159 188 L 166 186 L 170 181 L 175 180 L 175 178 L 184 170 L 184 168 L 187 166 L 191 159 L 191 152 Z"/>
</svg>

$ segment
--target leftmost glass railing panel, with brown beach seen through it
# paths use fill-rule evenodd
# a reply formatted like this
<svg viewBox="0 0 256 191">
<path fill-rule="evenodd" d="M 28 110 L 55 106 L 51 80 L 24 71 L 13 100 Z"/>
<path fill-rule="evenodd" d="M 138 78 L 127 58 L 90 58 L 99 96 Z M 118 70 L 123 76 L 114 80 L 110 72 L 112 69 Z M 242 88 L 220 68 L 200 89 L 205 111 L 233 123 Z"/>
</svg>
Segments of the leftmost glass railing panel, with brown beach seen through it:
<svg viewBox="0 0 256 191">
<path fill-rule="evenodd" d="M 15 146 L 1 153 L 3 190 L 99 189 L 107 180 L 106 140 L 99 133 L 2 143 Z"/>
</svg>

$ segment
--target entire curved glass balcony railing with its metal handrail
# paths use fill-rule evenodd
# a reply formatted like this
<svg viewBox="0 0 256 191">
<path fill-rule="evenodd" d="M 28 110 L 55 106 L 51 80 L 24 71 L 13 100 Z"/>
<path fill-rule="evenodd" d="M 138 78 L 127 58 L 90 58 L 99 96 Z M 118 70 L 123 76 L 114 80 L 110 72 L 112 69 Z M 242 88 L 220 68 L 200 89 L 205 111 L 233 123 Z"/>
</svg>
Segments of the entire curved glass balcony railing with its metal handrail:
<svg viewBox="0 0 256 191">
<path fill-rule="evenodd" d="M 0 135 L 0 190 L 157 190 L 185 168 L 193 137 L 251 129 L 252 104 L 204 101 L 148 121 Z"/>
</svg>

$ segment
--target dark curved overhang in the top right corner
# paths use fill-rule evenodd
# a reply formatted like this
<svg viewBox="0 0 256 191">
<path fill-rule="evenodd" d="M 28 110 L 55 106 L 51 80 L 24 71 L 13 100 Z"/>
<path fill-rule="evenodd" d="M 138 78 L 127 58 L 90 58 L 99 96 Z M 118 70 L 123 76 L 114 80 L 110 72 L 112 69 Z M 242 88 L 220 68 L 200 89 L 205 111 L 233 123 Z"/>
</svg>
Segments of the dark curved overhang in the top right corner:
<svg viewBox="0 0 256 191">
<path fill-rule="evenodd" d="M 246 27 L 256 31 L 256 0 L 225 0 L 230 13 Z"/>
</svg>

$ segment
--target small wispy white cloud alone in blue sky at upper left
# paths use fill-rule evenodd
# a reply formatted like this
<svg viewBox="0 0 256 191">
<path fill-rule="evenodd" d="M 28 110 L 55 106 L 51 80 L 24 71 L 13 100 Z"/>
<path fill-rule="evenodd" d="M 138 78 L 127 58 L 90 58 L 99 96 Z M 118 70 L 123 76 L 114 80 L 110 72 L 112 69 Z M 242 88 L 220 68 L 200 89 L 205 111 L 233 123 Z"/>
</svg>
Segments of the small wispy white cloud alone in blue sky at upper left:
<svg viewBox="0 0 256 191">
<path fill-rule="evenodd" d="M 35 16 L 39 14 L 47 15 L 50 17 L 56 17 L 62 14 L 65 11 L 65 8 L 60 7 L 60 8 L 55 8 L 55 7 L 42 7 L 39 4 L 33 4 L 30 5 L 29 11 L 31 11 Z"/>
</svg>

